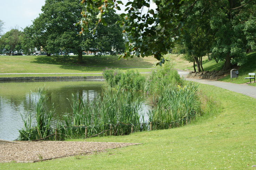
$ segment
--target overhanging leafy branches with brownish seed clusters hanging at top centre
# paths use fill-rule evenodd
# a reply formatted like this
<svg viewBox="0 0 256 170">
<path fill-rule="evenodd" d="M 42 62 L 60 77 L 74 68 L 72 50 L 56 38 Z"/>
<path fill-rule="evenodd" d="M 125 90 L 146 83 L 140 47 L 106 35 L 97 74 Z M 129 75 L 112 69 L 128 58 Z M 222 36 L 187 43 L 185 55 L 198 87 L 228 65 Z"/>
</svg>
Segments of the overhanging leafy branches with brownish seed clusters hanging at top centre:
<svg viewBox="0 0 256 170">
<path fill-rule="evenodd" d="M 161 6 L 161 1 L 156 0 L 158 6 L 156 11 L 150 9 L 150 0 L 134 0 L 126 3 L 127 14 L 121 14 L 120 25 L 123 26 L 123 32 L 128 34 L 129 42 L 126 43 L 126 52 L 122 57 L 127 58 L 133 56 L 144 57 L 154 56 L 161 60 L 159 64 L 164 63 L 162 54 L 166 54 L 171 47 L 174 46 L 174 41 L 179 38 L 181 28 L 187 15 L 190 14 L 197 0 L 166 0 L 165 6 Z M 80 34 L 89 32 L 88 23 L 92 22 L 92 14 L 95 9 L 98 9 L 96 26 L 91 31 L 96 31 L 99 23 L 106 25 L 104 15 L 110 9 L 117 8 L 118 4 L 123 4 L 122 1 L 98 1 L 82 0 L 85 5 L 85 10 L 82 11 L 82 19 L 78 24 L 82 27 Z M 188 6 L 185 11 L 181 11 L 181 7 Z M 161 7 L 161 8 L 160 8 Z M 145 9 L 146 8 L 146 9 Z M 147 11 L 142 14 L 142 11 Z M 173 23 L 177 23 L 174 25 Z M 161 27 L 161 29 L 157 29 Z M 170 31 L 171 30 L 171 31 Z M 134 52 L 134 54 L 131 54 Z M 120 56 L 121 57 L 121 56 Z"/>
</svg>

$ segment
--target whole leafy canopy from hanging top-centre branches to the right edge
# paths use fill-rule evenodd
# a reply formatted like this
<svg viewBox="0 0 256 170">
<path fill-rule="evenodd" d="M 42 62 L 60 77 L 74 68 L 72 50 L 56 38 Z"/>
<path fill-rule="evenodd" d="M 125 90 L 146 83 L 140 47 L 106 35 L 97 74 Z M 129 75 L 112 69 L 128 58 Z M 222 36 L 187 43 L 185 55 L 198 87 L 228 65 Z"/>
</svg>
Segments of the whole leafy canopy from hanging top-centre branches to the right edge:
<svg viewBox="0 0 256 170">
<path fill-rule="evenodd" d="M 232 64 L 241 65 L 246 60 L 245 52 L 254 50 L 255 11 L 253 0 L 155 0 L 157 9 L 150 9 L 150 0 L 134 0 L 126 3 L 126 14 L 121 14 L 120 25 L 127 33 L 129 42 L 122 57 L 154 56 L 164 63 L 166 54 L 184 35 L 183 43 L 191 56 L 211 53 L 216 60 L 225 60 L 223 69 Z M 123 1 L 82 0 L 85 10 L 78 24 L 80 34 L 89 32 L 88 23 L 95 9 L 98 10 L 95 29 L 108 10 Z M 143 10 L 147 11 L 143 14 Z M 192 46 L 191 46 L 192 45 Z M 131 53 L 134 51 L 134 55 Z"/>
</svg>

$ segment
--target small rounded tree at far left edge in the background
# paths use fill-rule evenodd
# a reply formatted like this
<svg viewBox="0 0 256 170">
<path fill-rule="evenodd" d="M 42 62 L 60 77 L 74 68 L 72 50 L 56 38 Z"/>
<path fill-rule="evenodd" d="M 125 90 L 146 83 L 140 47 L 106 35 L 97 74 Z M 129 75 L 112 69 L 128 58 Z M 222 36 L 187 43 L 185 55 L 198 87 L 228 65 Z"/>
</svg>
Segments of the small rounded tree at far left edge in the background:
<svg viewBox="0 0 256 170">
<path fill-rule="evenodd" d="M 11 29 L 1 37 L 2 49 L 5 49 L 11 55 L 11 52 L 21 51 L 22 32 L 18 29 Z"/>
</svg>

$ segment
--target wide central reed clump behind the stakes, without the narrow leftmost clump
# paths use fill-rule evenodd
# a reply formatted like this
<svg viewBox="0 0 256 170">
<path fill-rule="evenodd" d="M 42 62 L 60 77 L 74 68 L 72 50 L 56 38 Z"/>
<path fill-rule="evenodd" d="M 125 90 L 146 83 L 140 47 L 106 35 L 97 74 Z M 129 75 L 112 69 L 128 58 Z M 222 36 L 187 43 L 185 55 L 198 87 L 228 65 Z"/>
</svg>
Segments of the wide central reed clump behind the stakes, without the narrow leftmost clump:
<svg viewBox="0 0 256 170">
<path fill-rule="evenodd" d="M 141 97 L 134 97 L 131 91 L 105 90 L 97 96 L 93 103 L 75 99 L 73 95 L 73 115 L 66 113 L 59 130 L 61 138 L 80 138 L 85 135 L 85 127 L 88 136 L 128 135 L 131 133 L 131 125 L 135 131 L 146 130 L 144 114 L 141 113 Z"/>
</svg>

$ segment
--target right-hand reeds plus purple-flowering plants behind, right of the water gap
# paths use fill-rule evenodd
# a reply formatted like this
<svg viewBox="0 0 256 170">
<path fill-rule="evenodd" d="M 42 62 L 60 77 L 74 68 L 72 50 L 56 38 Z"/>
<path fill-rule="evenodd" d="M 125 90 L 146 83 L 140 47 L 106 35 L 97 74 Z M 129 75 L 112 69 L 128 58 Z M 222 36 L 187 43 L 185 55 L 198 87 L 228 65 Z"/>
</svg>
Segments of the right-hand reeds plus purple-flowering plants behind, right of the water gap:
<svg viewBox="0 0 256 170">
<path fill-rule="evenodd" d="M 147 101 L 153 105 L 152 111 L 147 113 L 153 129 L 167 129 L 189 124 L 196 115 L 201 115 L 198 86 L 193 83 L 185 85 L 183 78 L 179 76 L 177 70 L 173 69 L 172 63 L 169 62 L 153 70 L 147 79 L 138 78 L 141 79 L 139 83 L 131 83 L 136 82 L 137 75 L 135 75 L 135 72 L 120 75 L 118 70 L 107 68 L 103 72 L 109 87 L 142 91 L 145 94 Z M 126 82 L 127 86 L 121 85 L 127 79 L 129 80 Z"/>
</svg>

